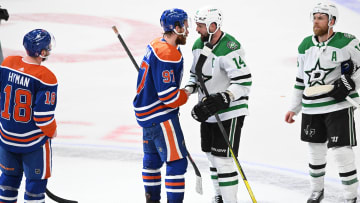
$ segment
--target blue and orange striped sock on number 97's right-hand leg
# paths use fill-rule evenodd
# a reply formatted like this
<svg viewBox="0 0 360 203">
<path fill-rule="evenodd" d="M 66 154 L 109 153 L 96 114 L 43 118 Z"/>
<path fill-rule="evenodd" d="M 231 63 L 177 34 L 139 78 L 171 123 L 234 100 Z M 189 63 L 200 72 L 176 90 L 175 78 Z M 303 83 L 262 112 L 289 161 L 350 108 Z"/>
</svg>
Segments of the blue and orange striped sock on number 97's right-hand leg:
<svg viewBox="0 0 360 203">
<path fill-rule="evenodd" d="M 169 203 L 182 203 L 185 192 L 186 158 L 167 162 L 165 188 Z"/>
</svg>

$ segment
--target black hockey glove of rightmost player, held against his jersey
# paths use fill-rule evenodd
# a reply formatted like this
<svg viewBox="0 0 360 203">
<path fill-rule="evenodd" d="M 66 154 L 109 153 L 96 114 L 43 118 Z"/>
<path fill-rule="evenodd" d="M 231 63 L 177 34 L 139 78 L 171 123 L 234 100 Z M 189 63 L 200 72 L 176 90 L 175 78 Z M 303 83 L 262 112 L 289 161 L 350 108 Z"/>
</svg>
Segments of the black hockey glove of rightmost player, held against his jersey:
<svg viewBox="0 0 360 203">
<path fill-rule="evenodd" d="M 355 89 L 355 83 L 350 75 L 341 75 L 339 79 L 334 82 L 334 89 L 328 95 L 333 97 L 336 101 L 341 102 L 349 95 L 350 91 Z"/>
</svg>

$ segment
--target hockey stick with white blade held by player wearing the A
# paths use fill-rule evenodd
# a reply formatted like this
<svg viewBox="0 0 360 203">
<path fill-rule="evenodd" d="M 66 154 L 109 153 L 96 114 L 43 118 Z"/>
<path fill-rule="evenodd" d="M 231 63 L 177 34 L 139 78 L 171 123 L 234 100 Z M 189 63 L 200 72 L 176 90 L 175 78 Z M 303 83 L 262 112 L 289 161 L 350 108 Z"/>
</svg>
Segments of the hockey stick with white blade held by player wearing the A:
<svg viewBox="0 0 360 203">
<path fill-rule="evenodd" d="M 360 70 L 356 71 L 354 75 L 351 76 L 351 79 L 355 80 L 360 76 Z M 304 95 L 307 97 L 312 96 L 318 96 L 322 94 L 326 94 L 330 92 L 332 89 L 334 89 L 334 85 L 317 85 L 308 87 L 304 90 Z M 350 96 L 346 96 L 345 99 L 350 102 L 353 106 L 355 106 L 357 109 L 360 108 L 360 105 L 356 103 Z"/>
</svg>

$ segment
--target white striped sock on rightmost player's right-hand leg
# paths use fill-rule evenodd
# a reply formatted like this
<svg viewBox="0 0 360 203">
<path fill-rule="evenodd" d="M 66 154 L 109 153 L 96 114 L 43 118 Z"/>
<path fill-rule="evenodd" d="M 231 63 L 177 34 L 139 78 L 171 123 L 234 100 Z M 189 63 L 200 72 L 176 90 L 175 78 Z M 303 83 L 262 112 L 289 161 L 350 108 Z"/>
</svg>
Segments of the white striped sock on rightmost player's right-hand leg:
<svg viewBox="0 0 360 203">
<path fill-rule="evenodd" d="M 357 197 L 359 186 L 354 152 L 351 147 L 338 147 L 333 149 L 333 153 L 344 188 L 344 197 L 345 199 L 353 199 Z"/>
</svg>

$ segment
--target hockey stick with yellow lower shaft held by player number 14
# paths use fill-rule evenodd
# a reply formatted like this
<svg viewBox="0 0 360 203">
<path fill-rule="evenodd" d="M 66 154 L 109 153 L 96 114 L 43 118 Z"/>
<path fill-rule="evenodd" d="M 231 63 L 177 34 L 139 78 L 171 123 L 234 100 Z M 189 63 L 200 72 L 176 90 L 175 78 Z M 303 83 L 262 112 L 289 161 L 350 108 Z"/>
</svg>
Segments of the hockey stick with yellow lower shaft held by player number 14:
<svg viewBox="0 0 360 203">
<path fill-rule="evenodd" d="M 209 96 L 209 92 L 207 91 L 206 89 L 206 86 L 205 86 L 205 83 L 204 83 L 204 79 L 202 77 L 202 67 L 207 59 L 207 57 L 211 54 L 211 51 L 212 51 L 212 48 L 213 46 L 210 44 L 210 43 L 207 43 L 204 48 L 202 49 L 201 51 L 201 54 L 200 54 L 200 57 L 199 57 L 199 60 L 197 61 L 196 63 L 196 66 L 195 66 L 195 74 L 198 78 L 198 81 L 200 83 L 200 87 L 203 89 L 205 95 L 208 97 Z M 256 203 L 256 199 L 255 199 L 255 196 L 254 196 L 254 193 L 252 192 L 251 188 L 250 188 L 250 185 L 246 179 L 246 176 L 245 176 L 245 173 L 240 165 L 240 162 L 239 160 L 237 159 L 237 157 L 234 155 L 234 152 L 233 152 L 233 148 L 229 142 L 229 136 L 227 135 L 226 131 L 225 131 L 225 128 L 220 120 L 220 117 L 217 113 L 215 113 L 215 118 L 216 118 L 216 122 L 220 128 L 220 131 L 222 133 L 222 135 L 224 136 L 224 139 L 226 141 L 226 144 L 228 145 L 229 147 L 229 151 L 231 153 L 231 156 L 232 158 L 234 159 L 235 163 L 236 163 L 236 166 L 241 174 L 241 177 L 245 183 L 245 186 L 246 186 L 246 189 L 248 190 L 249 192 L 249 195 L 251 197 L 251 200 L 253 201 L 253 203 Z"/>
</svg>

